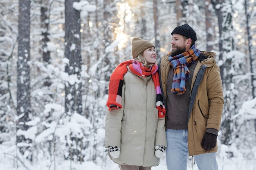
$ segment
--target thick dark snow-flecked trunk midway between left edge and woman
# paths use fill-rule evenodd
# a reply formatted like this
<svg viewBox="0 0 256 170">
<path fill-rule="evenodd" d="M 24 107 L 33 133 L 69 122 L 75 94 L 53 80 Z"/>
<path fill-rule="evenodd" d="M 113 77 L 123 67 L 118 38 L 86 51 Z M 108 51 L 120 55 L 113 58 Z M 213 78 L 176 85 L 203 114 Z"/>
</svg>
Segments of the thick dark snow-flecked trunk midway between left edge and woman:
<svg viewBox="0 0 256 170">
<path fill-rule="evenodd" d="M 69 59 L 65 72 L 72 79 L 65 84 L 65 112 L 82 114 L 81 21 L 80 11 L 73 8 L 73 2 L 79 0 L 65 0 L 65 57 Z"/>
</svg>

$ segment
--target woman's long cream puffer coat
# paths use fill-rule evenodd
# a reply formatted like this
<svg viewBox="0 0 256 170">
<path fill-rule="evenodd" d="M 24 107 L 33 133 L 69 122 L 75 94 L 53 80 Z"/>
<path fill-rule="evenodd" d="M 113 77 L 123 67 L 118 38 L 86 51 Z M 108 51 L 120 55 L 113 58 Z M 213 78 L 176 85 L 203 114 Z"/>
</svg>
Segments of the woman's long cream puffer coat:
<svg viewBox="0 0 256 170">
<path fill-rule="evenodd" d="M 106 111 L 105 147 L 118 146 L 120 156 L 110 159 L 130 166 L 159 164 L 155 146 L 167 147 L 165 118 L 158 118 L 153 79 L 130 72 L 124 75 L 122 108 Z"/>
</svg>

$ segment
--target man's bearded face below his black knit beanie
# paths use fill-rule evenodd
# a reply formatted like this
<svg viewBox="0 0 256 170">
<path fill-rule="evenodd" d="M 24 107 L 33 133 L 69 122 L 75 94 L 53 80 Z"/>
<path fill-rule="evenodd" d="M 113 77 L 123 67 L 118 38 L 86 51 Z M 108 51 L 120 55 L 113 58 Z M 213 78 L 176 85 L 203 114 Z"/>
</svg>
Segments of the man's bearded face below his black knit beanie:
<svg viewBox="0 0 256 170">
<path fill-rule="evenodd" d="M 187 51 L 186 40 L 184 40 L 182 35 L 173 34 L 172 38 L 173 40 L 171 42 L 172 44 L 171 56 L 176 56 Z"/>
</svg>

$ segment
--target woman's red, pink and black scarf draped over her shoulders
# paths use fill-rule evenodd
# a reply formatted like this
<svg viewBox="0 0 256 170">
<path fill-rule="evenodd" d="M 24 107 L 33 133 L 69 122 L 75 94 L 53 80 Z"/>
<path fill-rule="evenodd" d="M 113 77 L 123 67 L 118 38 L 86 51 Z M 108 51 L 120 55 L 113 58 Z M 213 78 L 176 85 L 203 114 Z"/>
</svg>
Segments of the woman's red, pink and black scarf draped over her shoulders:
<svg viewBox="0 0 256 170">
<path fill-rule="evenodd" d="M 157 102 L 155 107 L 158 110 L 158 117 L 164 117 L 166 110 L 164 107 L 163 97 L 159 83 L 157 64 L 151 66 L 150 68 L 146 68 L 136 60 L 128 60 L 126 62 L 122 62 L 115 68 L 112 75 L 110 76 L 107 101 L 108 110 L 122 108 L 122 86 L 124 84 L 124 75 L 127 72 L 126 66 L 129 66 L 130 71 L 135 75 L 141 77 L 149 77 L 150 75 L 152 76 L 157 93 Z"/>
</svg>

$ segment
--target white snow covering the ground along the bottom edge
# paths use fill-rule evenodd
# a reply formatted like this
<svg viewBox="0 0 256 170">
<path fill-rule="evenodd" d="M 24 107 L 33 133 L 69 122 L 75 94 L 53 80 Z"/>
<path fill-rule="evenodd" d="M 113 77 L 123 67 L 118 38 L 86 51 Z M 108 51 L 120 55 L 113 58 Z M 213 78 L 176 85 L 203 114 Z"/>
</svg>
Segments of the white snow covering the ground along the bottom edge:
<svg viewBox="0 0 256 170">
<path fill-rule="evenodd" d="M 98 159 L 97 164 L 92 161 L 74 163 L 68 160 L 56 160 L 56 163 L 52 163 L 52 165 L 49 165 L 47 161 L 40 161 L 40 165 L 31 165 L 21 163 L 24 161 L 22 159 L 15 162 L 13 159 L 15 155 L 10 154 L 13 153 L 13 150 L 15 150 L 14 146 L 8 148 L 0 145 L 0 170 L 119 170 L 119 166 L 108 155 L 106 155 L 104 161 Z M 220 145 L 216 154 L 219 170 L 256 170 L 256 147 L 242 151 L 232 146 Z M 152 167 L 152 170 L 167 170 L 165 159 L 164 152 L 159 166 Z M 14 166 L 16 163 L 19 164 L 18 167 Z M 198 170 L 196 163 L 192 161 L 192 157 L 188 159 L 187 170 Z"/>
</svg>

